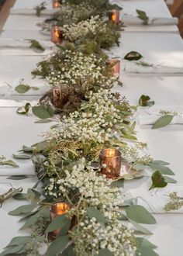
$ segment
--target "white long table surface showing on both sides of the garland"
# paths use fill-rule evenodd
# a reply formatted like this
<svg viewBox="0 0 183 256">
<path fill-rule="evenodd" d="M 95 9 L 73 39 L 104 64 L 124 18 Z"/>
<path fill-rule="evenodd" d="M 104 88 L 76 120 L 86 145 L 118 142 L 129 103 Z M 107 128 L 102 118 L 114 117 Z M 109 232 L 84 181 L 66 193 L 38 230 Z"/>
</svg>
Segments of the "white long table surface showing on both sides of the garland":
<svg viewBox="0 0 183 256">
<path fill-rule="evenodd" d="M 25 1 L 17 0 L 14 5 L 14 9 L 33 9 L 35 5 L 40 4 L 41 0 Z M 47 0 L 48 8 L 50 7 L 50 0 Z M 163 0 L 129 0 L 121 1 L 124 9 L 134 12 L 135 9 L 143 9 L 146 12 L 150 12 L 152 16 L 164 16 L 171 17 L 170 12 L 167 10 Z M 29 23 L 31 18 L 31 23 Z M 16 23 L 12 21 L 15 19 L 22 21 L 22 16 L 10 15 L 7 20 L 2 37 L 11 38 L 34 38 L 36 40 L 50 40 L 47 34 L 40 33 L 36 29 L 36 16 L 30 16 L 24 18 L 23 26 L 19 24 L 16 27 Z M 31 27 L 30 27 L 31 26 Z M 169 27 L 169 26 L 168 26 Z M 134 29 L 131 29 L 134 30 Z M 167 31 L 168 30 L 168 31 Z M 146 33 L 144 33 L 146 32 Z M 182 67 L 183 63 L 183 42 L 181 36 L 178 34 L 176 26 L 167 28 L 167 26 L 161 27 L 161 30 L 152 31 L 142 26 L 140 31 L 130 31 L 126 29 L 122 33 L 121 47 L 114 47 L 112 49 L 113 55 L 124 57 L 124 54 L 130 50 L 136 50 L 143 54 L 147 60 L 161 63 L 166 61 L 167 64 L 177 65 Z M 41 140 L 38 134 L 45 130 L 48 130 L 53 123 L 34 123 L 36 118 L 29 116 L 18 116 L 16 114 L 16 107 L 3 106 L 1 99 L 5 99 L 6 83 L 13 84 L 18 78 L 25 78 L 25 81 L 33 86 L 40 86 L 37 95 L 33 95 L 33 92 L 29 91 L 24 95 L 19 96 L 16 93 L 11 92 L 11 99 L 29 99 L 29 101 L 36 99 L 35 97 L 41 95 L 48 87 L 45 81 L 38 78 L 32 78 L 30 72 L 36 66 L 36 63 L 41 60 L 41 56 L 0 56 L 0 155 L 11 158 L 16 150 L 22 147 L 22 144 L 30 145 L 37 140 Z M 116 91 L 125 95 L 129 102 L 133 105 L 138 103 L 140 95 L 150 95 L 157 104 L 162 105 L 182 105 L 183 98 L 183 76 L 174 74 L 130 74 L 121 73 L 121 80 L 123 81 L 123 88 L 116 87 Z M 27 98 L 26 98 L 27 97 Z M 146 141 L 148 144 L 147 152 L 154 157 L 154 159 L 161 159 L 170 162 L 170 167 L 175 173 L 175 179 L 178 183 L 183 184 L 183 172 L 182 172 L 182 151 L 183 151 L 183 126 L 172 125 L 164 127 L 161 130 L 151 130 L 150 126 L 142 128 L 139 125 L 136 126 L 137 137 L 140 140 Z M 29 168 L 33 171 L 33 164 L 30 161 L 20 161 L 19 165 L 22 168 Z M 8 170 L 8 168 L 5 168 Z M 22 181 L 7 180 L 5 175 L 1 176 L 1 182 L 11 182 L 15 187 L 22 186 L 24 192 L 26 189 L 33 186 L 36 182 L 36 177 L 31 176 Z M 148 189 L 150 186 L 150 180 L 143 178 L 135 180 L 133 182 L 126 182 L 125 189 L 133 189 L 136 187 L 142 187 Z M 0 230 L 3 230 L 0 234 L 0 251 L 9 243 L 12 237 L 17 235 L 24 235 L 24 232 L 19 231 L 21 223 L 19 223 L 19 217 L 9 216 L 10 210 L 24 204 L 25 202 L 19 202 L 15 199 L 9 199 L 4 203 L 2 209 L 0 209 Z M 148 239 L 156 244 L 157 253 L 160 256 L 181 256 L 181 241 L 183 240 L 183 222 L 181 214 L 169 213 L 169 214 L 156 214 L 157 224 L 150 225 L 147 228 L 153 231 L 153 235 Z M 146 227 L 146 225 L 145 225 Z M 148 255 L 147 255 L 148 256 Z"/>
</svg>

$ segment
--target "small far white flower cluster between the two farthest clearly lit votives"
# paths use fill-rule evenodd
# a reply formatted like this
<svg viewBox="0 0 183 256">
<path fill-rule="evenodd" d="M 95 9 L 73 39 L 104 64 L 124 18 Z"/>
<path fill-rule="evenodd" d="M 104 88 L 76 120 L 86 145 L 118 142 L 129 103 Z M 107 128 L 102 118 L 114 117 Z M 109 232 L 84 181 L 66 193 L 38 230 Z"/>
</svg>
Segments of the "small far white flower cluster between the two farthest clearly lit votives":
<svg viewBox="0 0 183 256">
<path fill-rule="evenodd" d="M 64 25 L 62 27 L 63 36 L 65 39 L 74 42 L 80 38 L 85 38 L 89 33 L 96 35 L 99 33 L 105 33 L 106 23 L 100 19 L 99 16 L 91 16 L 91 19 L 87 19 L 78 24 Z"/>
</svg>

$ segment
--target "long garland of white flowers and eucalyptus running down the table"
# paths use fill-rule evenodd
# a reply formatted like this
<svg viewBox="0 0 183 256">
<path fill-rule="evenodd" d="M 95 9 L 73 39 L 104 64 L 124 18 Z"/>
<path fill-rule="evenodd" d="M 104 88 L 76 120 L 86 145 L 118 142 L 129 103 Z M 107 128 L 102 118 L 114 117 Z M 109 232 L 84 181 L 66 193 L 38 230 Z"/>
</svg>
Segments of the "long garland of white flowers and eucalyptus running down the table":
<svg viewBox="0 0 183 256">
<path fill-rule="evenodd" d="M 98 2 L 102 13 L 106 12 L 108 2 Z M 88 8 L 85 0 L 78 0 L 77 4 Z M 73 1 L 67 1 L 67 8 L 72 5 Z M 117 43 L 116 35 L 110 42 L 106 37 L 103 41 L 98 38 L 106 27 L 107 31 L 109 26 L 112 29 L 112 23 L 103 22 L 99 16 L 77 21 L 63 25 L 64 36 L 71 43 L 58 46 L 57 52 L 40 62 L 33 74 L 47 78 L 54 88 L 64 83 L 68 90 L 81 90 L 83 85 L 85 89 L 77 110 L 43 133 L 43 142 L 22 148 L 26 154 L 33 154 L 43 190 L 35 190 L 36 184 L 26 194 L 16 194 L 16 199 L 28 199 L 30 203 L 9 214 L 26 218 L 22 229 L 31 228 L 31 235 L 13 238 L 2 255 L 157 255 L 154 244 L 136 237 L 129 227 L 131 222 L 137 231 L 150 234 L 140 223 L 156 223 L 142 206 L 133 205 L 132 200 L 124 202 L 123 181 L 129 178 L 129 173 L 116 180 L 106 178 L 98 166 L 98 155 L 103 148 L 118 148 L 130 178 L 143 176 L 146 168 L 160 170 L 152 176 L 152 187 L 161 186 L 156 175 L 158 181 L 160 177 L 165 179 L 161 175 L 164 163 L 142 154 L 145 144 L 137 141 L 135 123 L 130 121 L 135 108 L 110 90 L 118 78 L 112 75 L 112 66 L 106 64 L 107 57 L 101 48 Z M 81 30 L 85 26 L 86 30 Z M 86 52 L 83 49 L 90 29 L 96 44 Z M 66 202 L 69 209 L 50 221 L 49 209 L 55 202 Z M 57 236 L 52 240 L 50 234 L 55 230 Z"/>
</svg>

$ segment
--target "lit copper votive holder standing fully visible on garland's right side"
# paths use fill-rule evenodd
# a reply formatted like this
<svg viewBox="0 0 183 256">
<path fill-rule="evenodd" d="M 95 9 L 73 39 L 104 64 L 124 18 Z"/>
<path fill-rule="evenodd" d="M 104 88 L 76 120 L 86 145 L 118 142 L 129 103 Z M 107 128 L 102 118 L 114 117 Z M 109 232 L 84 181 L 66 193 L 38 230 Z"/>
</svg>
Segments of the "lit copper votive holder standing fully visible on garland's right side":
<svg viewBox="0 0 183 256">
<path fill-rule="evenodd" d="M 100 153 L 100 167 L 106 178 L 118 178 L 121 171 L 122 157 L 119 150 L 106 148 Z"/>
</svg>

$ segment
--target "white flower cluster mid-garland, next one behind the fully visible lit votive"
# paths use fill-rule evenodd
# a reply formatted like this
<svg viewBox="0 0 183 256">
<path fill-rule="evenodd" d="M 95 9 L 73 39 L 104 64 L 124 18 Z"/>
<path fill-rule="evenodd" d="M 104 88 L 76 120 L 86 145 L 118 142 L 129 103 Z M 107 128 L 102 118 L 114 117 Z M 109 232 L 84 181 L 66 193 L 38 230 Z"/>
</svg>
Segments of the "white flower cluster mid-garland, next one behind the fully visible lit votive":
<svg viewBox="0 0 183 256">
<path fill-rule="evenodd" d="M 43 135 L 48 139 L 95 140 L 104 143 L 116 136 L 115 126 L 123 123 L 120 110 L 113 104 L 115 96 L 108 89 L 89 92 L 88 102 L 81 104 L 85 112 L 75 111 L 55 129 Z"/>
</svg>

